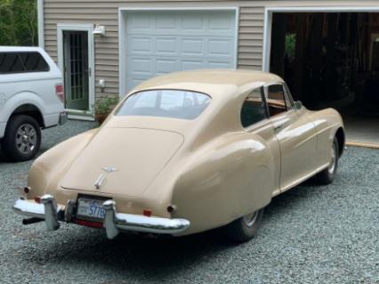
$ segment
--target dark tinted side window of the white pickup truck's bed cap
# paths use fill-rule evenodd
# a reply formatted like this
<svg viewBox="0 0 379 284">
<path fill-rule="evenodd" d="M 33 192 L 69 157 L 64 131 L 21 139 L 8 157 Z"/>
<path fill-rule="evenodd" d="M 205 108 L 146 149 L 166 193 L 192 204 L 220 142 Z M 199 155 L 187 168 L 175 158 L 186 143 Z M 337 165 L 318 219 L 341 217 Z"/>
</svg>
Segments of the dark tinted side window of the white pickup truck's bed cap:
<svg viewBox="0 0 379 284">
<path fill-rule="evenodd" d="M 49 65 L 37 52 L 0 53 L 0 74 L 47 72 Z"/>
</svg>

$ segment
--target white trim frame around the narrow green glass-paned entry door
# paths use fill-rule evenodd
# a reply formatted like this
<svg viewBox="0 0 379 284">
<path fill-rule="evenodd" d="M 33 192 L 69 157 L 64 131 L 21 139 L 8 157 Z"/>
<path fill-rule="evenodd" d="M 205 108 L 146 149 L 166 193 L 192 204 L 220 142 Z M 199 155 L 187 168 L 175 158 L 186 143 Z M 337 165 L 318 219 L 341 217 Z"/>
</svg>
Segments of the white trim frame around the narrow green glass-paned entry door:
<svg viewBox="0 0 379 284">
<path fill-rule="evenodd" d="M 63 31 L 65 30 L 84 30 L 88 33 L 88 109 L 89 111 L 81 110 L 68 110 L 71 113 L 75 113 L 77 118 L 83 115 L 83 119 L 88 118 L 88 116 L 94 115 L 94 100 L 95 100 L 95 65 L 94 65 L 94 42 L 93 42 L 93 24 L 57 24 L 57 55 L 58 55 L 58 67 L 60 72 L 64 74 L 63 70 Z M 85 117 L 87 116 L 87 117 Z M 86 120 L 86 119 L 85 119 Z"/>
</svg>

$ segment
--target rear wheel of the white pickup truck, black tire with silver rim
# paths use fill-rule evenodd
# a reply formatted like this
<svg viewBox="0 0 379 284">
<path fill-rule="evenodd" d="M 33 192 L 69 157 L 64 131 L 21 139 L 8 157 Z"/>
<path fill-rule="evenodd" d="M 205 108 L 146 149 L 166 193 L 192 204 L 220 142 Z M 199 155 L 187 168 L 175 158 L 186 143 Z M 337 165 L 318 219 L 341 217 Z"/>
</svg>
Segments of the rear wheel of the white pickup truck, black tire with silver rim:
<svg viewBox="0 0 379 284">
<path fill-rule="evenodd" d="M 26 161 L 36 156 L 41 145 L 41 129 L 36 119 L 17 115 L 9 119 L 2 150 L 12 161 Z"/>
</svg>

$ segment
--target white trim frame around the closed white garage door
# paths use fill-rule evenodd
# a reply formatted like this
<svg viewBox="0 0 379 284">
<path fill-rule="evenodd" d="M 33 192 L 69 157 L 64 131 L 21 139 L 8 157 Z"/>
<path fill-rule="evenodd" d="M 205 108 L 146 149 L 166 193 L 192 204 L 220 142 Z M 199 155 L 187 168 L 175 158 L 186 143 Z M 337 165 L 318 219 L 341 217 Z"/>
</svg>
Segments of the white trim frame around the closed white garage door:
<svg viewBox="0 0 379 284">
<path fill-rule="evenodd" d="M 120 7 L 118 8 L 118 90 L 120 98 L 123 98 L 126 94 L 126 67 L 124 62 L 126 61 L 126 17 L 127 12 L 138 12 L 138 11 L 234 11 L 236 13 L 235 17 L 235 56 L 234 56 L 234 67 L 238 67 L 238 28 L 239 28 L 239 7 L 237 6 L 225 6 L 225 7 Z"/>
</svg>

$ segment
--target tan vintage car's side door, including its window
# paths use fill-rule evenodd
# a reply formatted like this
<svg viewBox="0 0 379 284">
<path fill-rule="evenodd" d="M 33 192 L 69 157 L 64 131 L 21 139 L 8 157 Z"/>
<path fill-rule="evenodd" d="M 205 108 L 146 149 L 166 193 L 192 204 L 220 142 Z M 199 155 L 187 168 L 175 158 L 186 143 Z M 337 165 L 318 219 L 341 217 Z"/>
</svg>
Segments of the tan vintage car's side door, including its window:
<svg viewBox="0 0 379 284">
<path fill-rule="evenodd" d="M 286 191 L 315 171 L 317 134 L 304 109 L 294 108 L 286 85 L 265 85 L 265 94 L 280 148 L 280 191 Z"/>
</svg>

